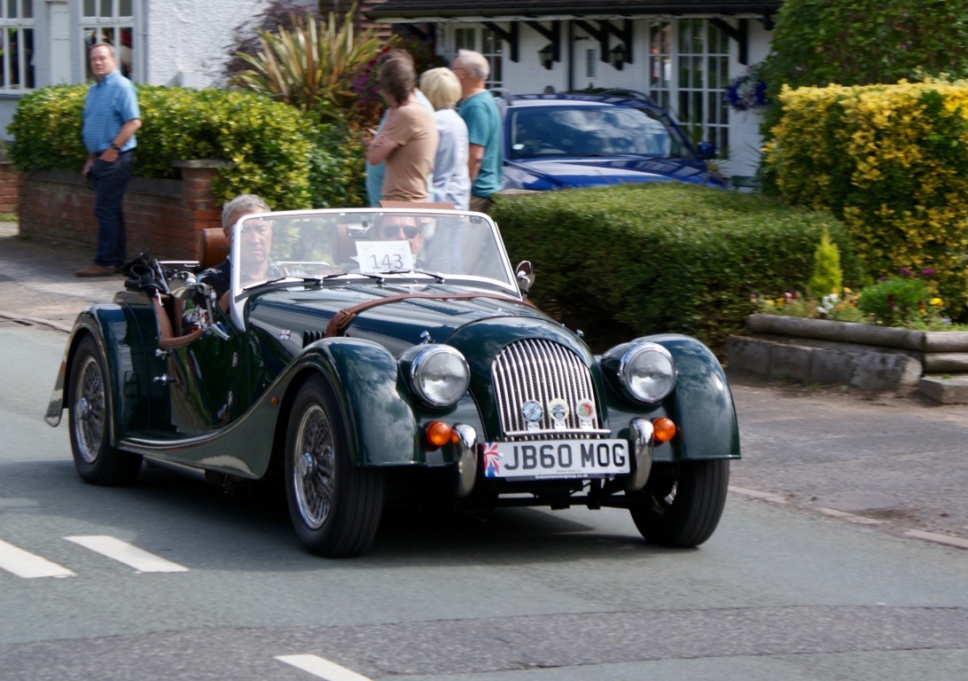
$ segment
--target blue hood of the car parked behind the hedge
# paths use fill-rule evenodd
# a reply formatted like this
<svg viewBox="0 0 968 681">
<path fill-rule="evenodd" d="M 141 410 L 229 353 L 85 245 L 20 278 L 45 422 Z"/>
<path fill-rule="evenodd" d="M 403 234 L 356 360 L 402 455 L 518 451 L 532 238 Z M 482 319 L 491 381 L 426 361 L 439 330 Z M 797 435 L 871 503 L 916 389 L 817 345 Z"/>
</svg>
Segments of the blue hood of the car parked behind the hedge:
<svg viewBox="0 0 968 681">
<path fill-rule="evenodd" d="M 505 161 L 504 188 L 550 190 L 629 182 L 689 182 L 725 185 L 701 161 L 672 158 L 603 158 Z"/>
</svg>

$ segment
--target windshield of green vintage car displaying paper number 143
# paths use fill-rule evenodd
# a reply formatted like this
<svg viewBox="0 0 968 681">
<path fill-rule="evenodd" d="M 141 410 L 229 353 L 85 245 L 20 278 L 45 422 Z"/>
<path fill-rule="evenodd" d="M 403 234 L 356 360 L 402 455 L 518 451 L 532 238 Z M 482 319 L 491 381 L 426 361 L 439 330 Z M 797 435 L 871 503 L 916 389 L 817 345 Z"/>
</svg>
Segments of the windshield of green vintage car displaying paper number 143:
<svg viewBox="0 0 968 681">
<path fill-rule="evenodd" d="M 232 228 L 232 289 L 412 277 L 517 292 L 487 215 L 398 208 L 257 213 Z M 234 266 L 239 263 L 239 266 Z"/>
</svg>

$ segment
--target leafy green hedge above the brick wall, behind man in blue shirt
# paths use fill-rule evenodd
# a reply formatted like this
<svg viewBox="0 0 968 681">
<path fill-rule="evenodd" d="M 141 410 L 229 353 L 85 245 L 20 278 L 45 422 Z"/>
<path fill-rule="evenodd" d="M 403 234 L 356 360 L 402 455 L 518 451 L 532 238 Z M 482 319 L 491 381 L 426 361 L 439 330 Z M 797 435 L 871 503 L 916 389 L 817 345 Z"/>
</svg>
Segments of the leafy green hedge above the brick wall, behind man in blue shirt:
<svg viewBox="0 0 968 681">
<path fill-rule="evenodd" d="M 348 134 L 311 114 L 260 95 L 221 89 L 138 85 L 142 127 L 136 174 L 175 177 L 172 161 L 227 159 L 215 185 L 220 200 L 254 193 L 278 208 L 362 201 L 363 161 Z M 8 131 L 19 170 L 80 170 L 86 85 L 25 95 Z"/>
</svg>

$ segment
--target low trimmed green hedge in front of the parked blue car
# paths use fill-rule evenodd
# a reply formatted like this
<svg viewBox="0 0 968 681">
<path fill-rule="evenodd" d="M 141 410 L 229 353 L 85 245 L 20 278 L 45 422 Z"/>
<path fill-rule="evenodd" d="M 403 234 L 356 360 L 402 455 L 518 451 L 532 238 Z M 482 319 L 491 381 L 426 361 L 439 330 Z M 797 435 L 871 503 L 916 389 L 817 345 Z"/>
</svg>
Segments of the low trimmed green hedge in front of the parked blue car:
<svg viewBox="0 0 968 681">
<path fill-rule="evenodd" d="M 804 291 L 826 226 L 844 283 L 862 265 L 832 217 L 679 183 L 500 196 L 491 214 L 512 263 L 530 260 L 531 298 L 592 347 L 678 331 L 714 350 L 742 331 L 750 294 Z"/>
</svg>

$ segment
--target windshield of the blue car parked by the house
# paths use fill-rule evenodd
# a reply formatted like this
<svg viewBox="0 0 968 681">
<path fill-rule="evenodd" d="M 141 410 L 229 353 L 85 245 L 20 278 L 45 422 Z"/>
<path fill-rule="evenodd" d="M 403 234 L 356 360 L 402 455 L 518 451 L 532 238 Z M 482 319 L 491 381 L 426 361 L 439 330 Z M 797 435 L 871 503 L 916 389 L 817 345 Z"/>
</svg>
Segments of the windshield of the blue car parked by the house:
<svg viewBox="0 0 968 681">
<path fill-rule="evenodd" d="M 670 121 L 647 108 L 511 107 L 511 160 L 555 156 L 689 156 Z"/>
</svg>

